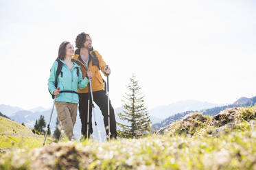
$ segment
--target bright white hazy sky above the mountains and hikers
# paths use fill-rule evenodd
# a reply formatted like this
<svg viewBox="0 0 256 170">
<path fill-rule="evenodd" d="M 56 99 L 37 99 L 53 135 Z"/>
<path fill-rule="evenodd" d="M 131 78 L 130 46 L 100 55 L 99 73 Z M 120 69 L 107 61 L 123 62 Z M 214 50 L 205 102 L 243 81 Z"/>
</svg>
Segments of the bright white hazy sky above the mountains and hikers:
<svg viewBox="0 0 256 170">
<path fill-rule="evenodd" d="M 49 70 L 63 40 L 86 32 L 112 69 L 121 106 L 132 73 L 148 108 L 256 95 L 256 1 L 0 0 L 0 104 L 49 108 Z"/>
</svg>

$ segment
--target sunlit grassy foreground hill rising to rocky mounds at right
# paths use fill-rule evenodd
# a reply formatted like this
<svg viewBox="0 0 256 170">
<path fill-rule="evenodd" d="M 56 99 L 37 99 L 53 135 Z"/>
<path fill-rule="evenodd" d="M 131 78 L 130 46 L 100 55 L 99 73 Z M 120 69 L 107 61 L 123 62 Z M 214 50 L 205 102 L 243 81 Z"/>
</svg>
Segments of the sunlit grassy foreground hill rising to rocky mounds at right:
<svg viewBox="0 0 256 170">
<path fill-rule="evenodd" d="M 157 134 L 9 151 L 0 169 L 256 169 L 256 107 L 189 114 Z"/>
</svg>

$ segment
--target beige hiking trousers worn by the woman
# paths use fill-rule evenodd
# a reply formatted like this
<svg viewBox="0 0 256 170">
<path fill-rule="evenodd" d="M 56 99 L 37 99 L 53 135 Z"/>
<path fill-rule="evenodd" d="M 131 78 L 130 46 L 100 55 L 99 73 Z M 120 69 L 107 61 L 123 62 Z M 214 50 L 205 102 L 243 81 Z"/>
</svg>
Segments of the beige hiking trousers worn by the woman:
<svg viewBox="0 0 256 170">
<path fill-rule="evenodd" d="M 60 134 L 60 140 L 64 139 L 65 136 L 71 140 L 78 111 L 78 104 L 56 101 L 55 107 L 58 114 L 58 120 L 61 122 L 62 129 L 65 132 L 65 134 Z"/>
</svg>

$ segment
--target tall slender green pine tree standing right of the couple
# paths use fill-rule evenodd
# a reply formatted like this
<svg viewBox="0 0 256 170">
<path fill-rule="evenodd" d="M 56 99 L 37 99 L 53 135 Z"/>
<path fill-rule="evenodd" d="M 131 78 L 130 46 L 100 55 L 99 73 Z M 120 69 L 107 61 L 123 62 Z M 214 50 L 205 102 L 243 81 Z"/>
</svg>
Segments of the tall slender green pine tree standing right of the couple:
<svg viewBox="0 0 256 170">
<path fill-rule="evenodd" d="M 120 130 L 118 136 L 124 138 L 139 138 L 146 136 L 150 132 L 150 117 L 145 106 L 144 95 L 141 93 L 139 82 L 135 79 L 135 75 L 130 78 L 128 91 L 122 100 L 124 102 L 124 113 L 119 113 L 119 118 L 128 122 L 124 125 L 117 123 Z"/>
</svg>

